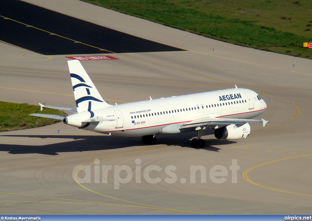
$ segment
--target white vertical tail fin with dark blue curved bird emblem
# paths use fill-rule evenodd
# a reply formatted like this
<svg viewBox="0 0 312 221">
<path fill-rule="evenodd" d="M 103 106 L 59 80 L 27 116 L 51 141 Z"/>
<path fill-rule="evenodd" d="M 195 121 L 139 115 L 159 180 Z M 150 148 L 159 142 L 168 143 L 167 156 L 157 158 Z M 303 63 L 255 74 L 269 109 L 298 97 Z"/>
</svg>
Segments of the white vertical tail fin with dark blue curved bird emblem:
<svg viewBox="0 0 312 221">
<path fill-rule="evenodd" d="M 70 60 L 67 63 L 78 113 L 89 111 L 92 117 L 92 110 L 112 106 L 103 100 L 78 60 Z"/>
</svg>

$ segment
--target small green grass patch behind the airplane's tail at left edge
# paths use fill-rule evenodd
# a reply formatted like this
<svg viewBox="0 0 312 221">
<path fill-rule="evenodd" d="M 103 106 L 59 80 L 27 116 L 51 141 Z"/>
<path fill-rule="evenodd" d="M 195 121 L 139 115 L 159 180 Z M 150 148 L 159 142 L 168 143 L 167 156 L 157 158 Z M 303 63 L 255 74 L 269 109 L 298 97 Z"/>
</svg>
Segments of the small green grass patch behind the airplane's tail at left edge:
<svg viewBox="0 0 312 221">
<path fill-rule="evenodd" d="M 0 132 L 29 129 L 60 122 L 60 120 L 29 116 L 32 113 L 65 115 L 62 111 L 51 109 L 40 111 L 40 106 L 36 105 L 0 101 Z"/>
</svg>

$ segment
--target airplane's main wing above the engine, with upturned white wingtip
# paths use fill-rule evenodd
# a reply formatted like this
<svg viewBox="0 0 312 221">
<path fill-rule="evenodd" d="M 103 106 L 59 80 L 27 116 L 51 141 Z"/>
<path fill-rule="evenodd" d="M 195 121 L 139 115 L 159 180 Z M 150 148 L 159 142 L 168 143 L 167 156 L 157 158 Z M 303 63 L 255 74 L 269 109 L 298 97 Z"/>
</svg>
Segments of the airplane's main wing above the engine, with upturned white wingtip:
<svg viewBox="0 0 312 221">
<path fill-rule="evenodd" d="M 249 119 L 231 119 L 231 118 L 213 118 L 213 117 L 204 117 L 197 120 L 192 120 L 181 125 L 180 129 L 189 128 L 189 127 L 206 127 L 206 126 L 227 126 L 230 124 L 242 125 L 245 123 L 263 123 L 263 126 L 270 121 L 264 119 L 261 120 L 249 120 Z"/>
</svg>

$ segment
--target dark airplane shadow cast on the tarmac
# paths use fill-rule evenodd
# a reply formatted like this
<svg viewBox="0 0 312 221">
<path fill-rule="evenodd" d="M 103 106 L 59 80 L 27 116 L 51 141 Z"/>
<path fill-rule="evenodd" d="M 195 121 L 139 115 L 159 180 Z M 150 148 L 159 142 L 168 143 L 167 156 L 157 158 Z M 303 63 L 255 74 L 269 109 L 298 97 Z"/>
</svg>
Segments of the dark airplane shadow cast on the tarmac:
<svg viewBox="0 0 312 221">
<path fill-rule="evenodd" d="M 74 141 L 63 141 L 61 143 L 52 143 L 46 145 L 19 145 L 19 144 L 0 144 L 0 151 L 6 151 L 11 154 L 38 153 L 46 155 L 58 155 L 62 152 L 83 152 L 95 150 L 109 150 L 126 148 L 132 146 L 144 146 L 141 137 L 118 137 L 118 136 L 81 136 L 81 135 L 2 135 L 5 137 L 28 137 L 28 138 L 56 138 L 56 139 L 74 139 Z M 195 133 L 183 134 L 157 134 L 154 145 L 180 146 L 191 148 L 191 141 Z M 221 148 L 217 145 L 226 145 L 236 143 L 227 140 L 206 139 L 206 146 L 202 148 L 207 151 L 219 152 Z M 200 149 L 200 148 L 194 148 Z"/>
</svg>

